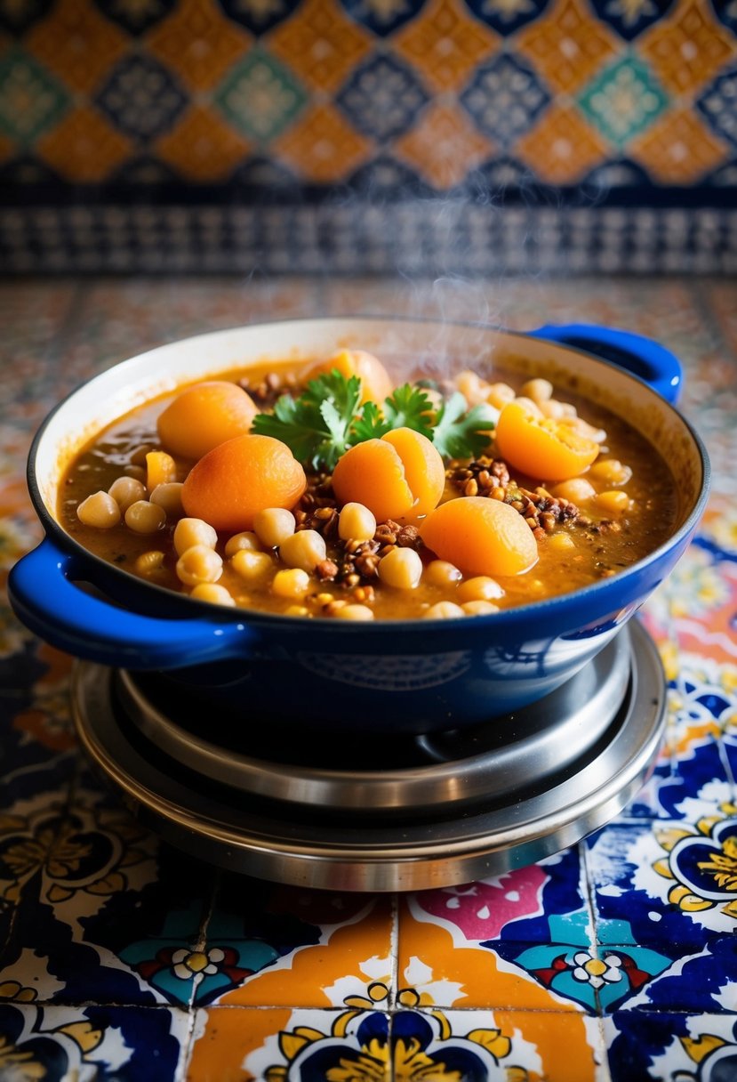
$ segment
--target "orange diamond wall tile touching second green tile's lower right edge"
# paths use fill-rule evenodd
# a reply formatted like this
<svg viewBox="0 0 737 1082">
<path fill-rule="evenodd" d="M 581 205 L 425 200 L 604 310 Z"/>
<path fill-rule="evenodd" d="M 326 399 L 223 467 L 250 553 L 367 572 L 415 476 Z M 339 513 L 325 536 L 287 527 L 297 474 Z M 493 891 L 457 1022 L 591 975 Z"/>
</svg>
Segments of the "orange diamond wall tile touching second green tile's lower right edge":
<svg viewBox="0 0 737 1082">
<path fill-rule="evenodd" d="M 357 169 L 370 146 L 332 106 L 321 105 L 278 140 L 274 149 L 304 180 L 329 184 Z"/>
</svg>

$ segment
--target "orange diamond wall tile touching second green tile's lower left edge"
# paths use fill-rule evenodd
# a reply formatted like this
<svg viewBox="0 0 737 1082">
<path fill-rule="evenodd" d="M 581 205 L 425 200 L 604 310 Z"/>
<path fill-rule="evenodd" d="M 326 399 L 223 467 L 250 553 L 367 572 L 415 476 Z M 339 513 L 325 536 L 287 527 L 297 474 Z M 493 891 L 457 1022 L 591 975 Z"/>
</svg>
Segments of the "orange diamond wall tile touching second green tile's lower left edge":
<svg viewBox="0 0 737 1082">
<path fill-rule="evenodd" d="M 156 149 L 186 180 L 205 182 L 229 176 L 249 144 L 210 109 L 193 106 Z"/>
</svg>

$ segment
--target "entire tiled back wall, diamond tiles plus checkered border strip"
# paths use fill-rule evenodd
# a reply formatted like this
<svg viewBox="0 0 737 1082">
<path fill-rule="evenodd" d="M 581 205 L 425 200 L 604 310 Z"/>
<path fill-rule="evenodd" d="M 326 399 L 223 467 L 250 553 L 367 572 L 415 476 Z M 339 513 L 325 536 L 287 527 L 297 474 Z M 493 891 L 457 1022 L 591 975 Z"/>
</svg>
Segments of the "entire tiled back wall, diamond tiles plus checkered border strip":
<svg viewBox="0 0 737 1082">
<path fill-rule="evenodd" d="M 735 0 L 0 0 L 6 270 L 734 270 Z"/>
</svg>

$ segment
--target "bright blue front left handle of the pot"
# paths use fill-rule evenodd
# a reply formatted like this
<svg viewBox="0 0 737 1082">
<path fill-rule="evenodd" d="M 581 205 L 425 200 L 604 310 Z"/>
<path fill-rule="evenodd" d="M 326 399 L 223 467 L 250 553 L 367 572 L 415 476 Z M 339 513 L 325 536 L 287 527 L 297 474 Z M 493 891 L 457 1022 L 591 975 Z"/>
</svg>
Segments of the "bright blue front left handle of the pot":
<svg viewBox="0 0 737 1082">
<path fill-rule="evenodd" d="M 242 623 L 137 615 L 92 596 L 75 578 L 82 576 L 73 556 L 46 537 L 8 579 L 16 616 L 59 650 L 130 669 L 179 669 L 250 654 L 255 636 Z"/>
</svg>

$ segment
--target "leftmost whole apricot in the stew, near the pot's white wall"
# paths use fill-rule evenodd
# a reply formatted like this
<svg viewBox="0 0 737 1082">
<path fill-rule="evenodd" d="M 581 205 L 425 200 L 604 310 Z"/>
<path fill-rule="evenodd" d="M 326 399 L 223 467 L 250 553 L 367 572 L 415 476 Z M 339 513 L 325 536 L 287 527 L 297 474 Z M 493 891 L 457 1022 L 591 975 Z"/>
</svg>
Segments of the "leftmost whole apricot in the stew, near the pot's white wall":
<svg viewBox="0 0 737 1082">
<path fill-rule="evenodd" d="M 185 387 L 159 414 L 159 438 L 169 451 L 201 459 L 213 447 L 251 427 L 256 404 L 242 387 L 227 380 L 206 380 Z"/>
</svg>

